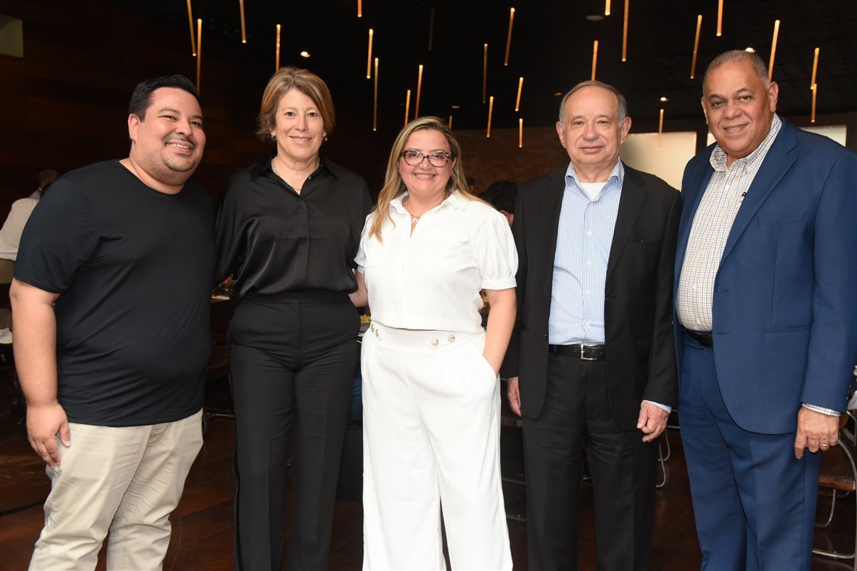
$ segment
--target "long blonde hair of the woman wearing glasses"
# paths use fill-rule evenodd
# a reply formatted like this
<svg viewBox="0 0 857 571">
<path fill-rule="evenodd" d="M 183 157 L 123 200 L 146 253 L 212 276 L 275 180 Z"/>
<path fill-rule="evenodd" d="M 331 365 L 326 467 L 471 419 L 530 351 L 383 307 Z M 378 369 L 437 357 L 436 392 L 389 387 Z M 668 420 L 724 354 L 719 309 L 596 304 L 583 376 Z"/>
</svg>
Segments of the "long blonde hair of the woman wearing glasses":
<svg viewBox="0 0 857 571">
<path fill-rule="evenodd" d="M 393 217 L 390 216 L 390 202 L 399 194 L 405 192 L 405 182 L 402 181 L 402 175 L 399 174 L 399 159 L 402 158 L 402 152 L 405 151 L 405 144 L 411 134 L 423 129 L 431 129 L 438 131 L 449 144 L 450 160 L 454 159 L 455 164 L 452 165 L 452 175 L 449 181 L 446 182 L 446 191 L 449 193 L 458 193 L 458 196 L 467 200 L 479 200 L 470 193 L 467 189 L 467 179 L 464 177 L 464 165 L 461 162 L 461 146 L 458 140 L 452 135 L 452 131 L 446 128 L 446 123 L 440 117 L 420 117 L 405 125 L 399 131 L 399 136 L 393 142 L 393 149 L 390 151 L 390 158 L 387 159 L 387 175 L 384 176 L 384 186 L 381 187 L 381 192 L 378 193 L 378 204 L 375 206 L 375 217 L 372 218 L 372 225 L 369 227 L 369 238 L 377 238 L 381 240 L 381 228 L 384 223 L 389 220 L 395 225 Z"/>
</svg>

